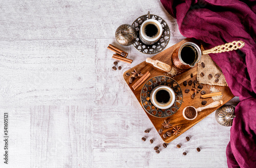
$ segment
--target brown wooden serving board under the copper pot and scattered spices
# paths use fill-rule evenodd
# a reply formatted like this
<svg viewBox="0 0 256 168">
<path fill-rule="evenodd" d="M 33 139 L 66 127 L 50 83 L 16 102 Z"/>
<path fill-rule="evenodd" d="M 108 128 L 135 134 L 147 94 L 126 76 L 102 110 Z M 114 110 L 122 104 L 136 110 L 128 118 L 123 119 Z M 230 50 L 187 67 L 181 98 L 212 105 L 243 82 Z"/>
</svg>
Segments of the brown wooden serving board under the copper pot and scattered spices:
<svg viewBox="0 0 256 168">
<path fill-rule="evenodd" d="M 172 53 L 174 52 L 174 50 L 181 46 L 183 43 L 185 42 L 197 42 L 196 39 L 193 39 L 193 38 L 187 38 L 187 39 L 184 39 L 182 41 L 180 41 L 179 43 L 165 49 L 164 51 L 156 54 L 154 57 L 152 57 L 153 60 L 159 60 L 161 62 L 164 62 L 172 67 L 175 67 L 172 63 Z M 182 94 L 183 94 L 183 103 L 181 105 L 181 107 L 179 108 L 178 111 L 176 111 L 176 113 L 172 116 L 169 116 L 169 117 L 166 117 L 166 118 L 158 118 L 158 117 L 155 117 L 155 116 L 152 116 L 150 114 L 148 114 L 145 110 L 145 113 L 146 115 L 148 116 L 148 118 L 151 120 L 151 122 L 153 123 L 153 125 L 155 126 L 155 128 L 157 129 L 157 131 L 159 129 L 162 129 L 163 132 L 160 134 L 161 138 L 163 139 L 163 141 L 165 143 L 170 143 L 172 142 L 175 138 L 177 138 L 179 135 L 181 135 L 182 133 L 184 133 L 186 130 L 188 130 L 189 128 L 193 127 L 195 124 L 197 124 L 198 122 L 200 122 L 201 120 L 203 120 L 205 117 L 207 117 L 209 114 L 211 114 L 213 111 L 215 111 L 216 109 L 218 109 L 219 107 L 221 106 L 218 106 L 218 107 L 215 107 L 215 108 L 208 108 L 208 109 L 205 109 L 203 110 L 202 112 L 199 112 L 198 113 L 198 117 L 195 119 L 195 120 L 186 120 L 183 115 L 182 115 L 182 111 L 183 109 L 186 107 L 186 106 L 194 106 L 196 108 L 198 107 L 202 107 L 202 106 L 206 106 L 208 104 L 210 104 L 211 102 L 214 102 L 214 100 L 212 100 L 212 98 L 205 98 L 205 99 L 202 99 L 201 98 L 201 93 L 197 93 L 195 98 L 192 99 L 191 98 L 191 95 L 194 93 L 192 89 L 192 86 L 194 86 L 194 84 L 192 86 L 189 86 L 187 85 L 186 87 L 183 86 L 183 81 L 187 80 L 187 82 L 189 80 L 192 80 L 194 81 L 196 79 L 196 76 L 197 76 L 197 65 L 194 67 L 194 68 L 190 68 L 188 70 L 180 70 L 178 69 L 177 67 L 175 67 L 177 70 L 178 70 L 178 75 L 176 76 L 172 76 L 172 75 L 169 75 L 167 72 L 165 71 L 162 71 L 156 67 L 154 67 L 152 64 L 148 64 L 146 63 L 145 61 L 136 65 L 135 67 L 127 70 L 124 72 L 123 74 L 123 78 L 124 80 L 126 81 L 127 85 L 130 87 L 130 89 L 132 90 L 132 92 L 134 93 L 134 95 L 136 96 L 137 100 L 139 101 L 140 105 L 142 106 L 141 104 L 141 99 L 140 99 L 140 93 L 141 93 L 141 89 L 142 87 L 144 86 L 145 82 L 155 76 L 160 76 L 160 75 L 163 75 L 163 76 L 169 76 L 169 77 L 172 77 L 173 79 L 175 79 L 180 87 L 181 87 L 181 90 L 182 90 Z M 146 71 L 150 71 L 151 73 L 151 76 L 149 78 L 147 78 L 147 80 L 138 88 L 134 91 L 134 89 L 132 88 L 132 86 L 134 85 L 134 83 L 139 79 L 139 77 L 135 78 L 135 80 L 132 82 L 132 83 L 129 83 L 129 76 L 126 76 L 125 73 L 129 72 L 131 73 L 134 69 L 138 70 L 138 71 L 141 71 L 142 74 L 144 74 Z M 190 74 L 193 73 L 194 76 L 193 78 L 190 77 Z M 206 84 L 202 84 L 203 85 L 203 91 L 207 93 L 211 93 L 210 92 L 210 88 L 212 86 L 210 85 L 206 85 Z M 228 87 L 222 87 L 222 86 L 214 86 L 216 89 L 218 89 L 220 92 L 222 92 L 222 101 L 224 102 L 223 104 L 225 104 L 226 102 L 228 102 L 230 99 L 232 99 L 234 96 L 233 94 L 231 93 L 230 89 Z M 190 89 L 189 93 L 185 93 L 185 89 Z M 202 105 L 201 102 L 203 100 L 206 100 L 207 101 L 207 104 L 206 105 Z M 143 107 L 142 107 L 143 108 Z M 143 108 L 144 109 L 144 108 Z M 168 120 L 171 120 L 170 124 L 172 124 L 173 126 L 178 126 L 178 127 L 181 127 L 181 132 L 179 135 L 175 136 L 175 135 L 172 135 L 170 137 L 166 137 L 165 139 L 163 138 L 163 134 L 166 133 L 167 131 L 169 132 L 172 132 L 173 130 L 173 126 L 166 129 L 166 128 L 163 128 L 162 126 L 162 123 L 164 122 L 164 120 L 168 121 Z"/>
</svg>

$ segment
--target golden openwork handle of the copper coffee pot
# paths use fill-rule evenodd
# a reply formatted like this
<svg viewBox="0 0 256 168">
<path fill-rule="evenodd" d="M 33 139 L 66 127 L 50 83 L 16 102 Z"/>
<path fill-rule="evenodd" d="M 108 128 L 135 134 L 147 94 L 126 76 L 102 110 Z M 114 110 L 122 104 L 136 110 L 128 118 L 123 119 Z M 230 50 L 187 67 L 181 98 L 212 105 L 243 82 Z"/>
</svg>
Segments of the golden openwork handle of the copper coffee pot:
<svg viewBox="0 0 256 168">
<path fill-rule="evenodd" d="M 226 43 L 226 44 L 222 44 L 222 45 L 218 45 L 214 48 L 211 49 L 207 49 L 202 51 L 202 54 L 208 54 L 208 53 L 221 53 L 221 52 L 225 52 L 225 51 L 232 51 L 232 50 L 236 50 L 239 48 L 242 48 L 245 45 L 245 43 L 241 40 L 239 41 L 233 41 L 231 43 Z"/>
</svg>

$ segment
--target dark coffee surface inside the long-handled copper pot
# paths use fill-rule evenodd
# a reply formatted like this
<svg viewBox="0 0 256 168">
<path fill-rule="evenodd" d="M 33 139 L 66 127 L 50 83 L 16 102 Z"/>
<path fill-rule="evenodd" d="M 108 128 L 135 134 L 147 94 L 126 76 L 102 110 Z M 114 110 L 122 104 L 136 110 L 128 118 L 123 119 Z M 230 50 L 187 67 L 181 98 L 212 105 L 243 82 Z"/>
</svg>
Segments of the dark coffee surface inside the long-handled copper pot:
<svg viewBox="0 0 256 168">
<path fill-rule="evenodd" d="M 181 49 L 181 59 L 186 64 L 193 64 L 196 61 L 197 53 L 191 46 L 185 46 Z"/>
</svg>

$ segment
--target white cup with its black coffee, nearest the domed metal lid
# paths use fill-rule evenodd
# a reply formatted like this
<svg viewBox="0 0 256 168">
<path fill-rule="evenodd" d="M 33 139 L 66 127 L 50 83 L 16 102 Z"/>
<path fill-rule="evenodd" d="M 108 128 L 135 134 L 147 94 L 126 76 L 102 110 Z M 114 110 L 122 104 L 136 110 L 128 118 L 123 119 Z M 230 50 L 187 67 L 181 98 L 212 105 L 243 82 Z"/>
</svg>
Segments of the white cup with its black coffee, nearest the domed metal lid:
<svg viewBox="0 0 256 168">
<path fill-rule="evenodd" d="M 147 45 L 155 44 L 162 36 L 163 27 L 155 19 L 145 20 L 140 26 L 139 38 Z"/>
</svg>

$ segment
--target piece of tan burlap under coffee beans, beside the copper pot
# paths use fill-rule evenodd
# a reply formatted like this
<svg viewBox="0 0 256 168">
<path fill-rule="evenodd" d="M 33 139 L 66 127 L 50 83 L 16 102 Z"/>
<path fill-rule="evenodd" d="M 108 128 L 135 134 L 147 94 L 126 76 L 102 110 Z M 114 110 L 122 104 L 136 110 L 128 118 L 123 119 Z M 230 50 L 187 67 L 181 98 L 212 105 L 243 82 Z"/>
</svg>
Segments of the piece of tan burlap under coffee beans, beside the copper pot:
<svg viewBox="0 0 256 168">
<path fill-rule="evenodd" d="M 202 51 L 204 48 L 201 46 Z M 202 67 L 202 62 L 205 67 Z M 201 72 L 204 73 L 204 76 L 201 75 Z M 212 74 L 212 78 L 209 78 L 209 74 Z M 215 82 L 215 75 L 219 74 L 219 81 Z M 220 69 L 220 67 L 212 61 L 208 54 L 203 54 L 200 62 L 197 66 L 197 80 L 199 83 L 208 84 L 208 85 L 219 85 L 219 86 L 227 86 L 226 79 Z"/>
</svg>

